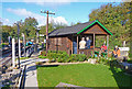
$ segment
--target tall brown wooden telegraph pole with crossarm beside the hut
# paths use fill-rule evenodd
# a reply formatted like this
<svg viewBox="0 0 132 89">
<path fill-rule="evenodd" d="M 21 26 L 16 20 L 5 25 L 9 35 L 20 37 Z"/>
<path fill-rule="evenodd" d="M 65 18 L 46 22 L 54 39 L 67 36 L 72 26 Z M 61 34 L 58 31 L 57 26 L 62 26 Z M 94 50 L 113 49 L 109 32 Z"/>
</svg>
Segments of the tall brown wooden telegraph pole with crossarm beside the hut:
<svg viewBox="0 0 132 89">
<path fill-rule="evenodd" d="M 55 15 L 55 13 L 52 13 L 48 10 L 47 11 L 41 10 L 41 13 L 46 13 L 46 15 L 47 15 L 47 18 L 46 18 L 46 54 L 47 54 L 47 51 L 48 51 L 48 14 Z"/>
</svg>

